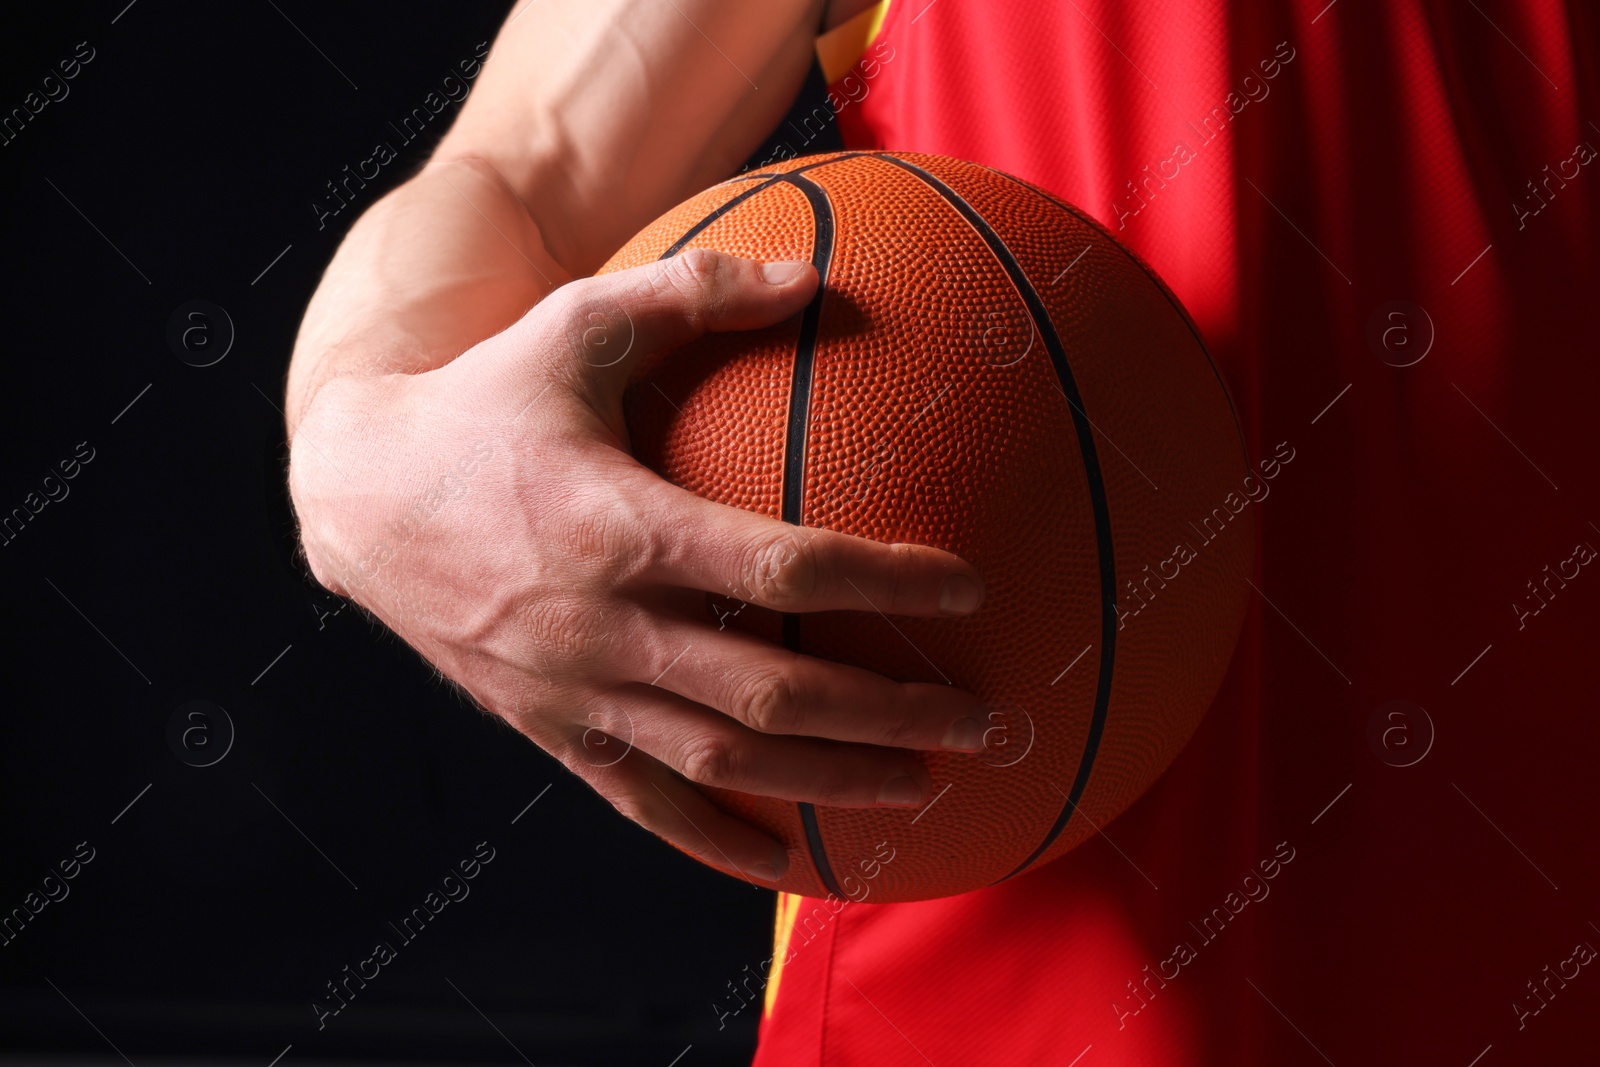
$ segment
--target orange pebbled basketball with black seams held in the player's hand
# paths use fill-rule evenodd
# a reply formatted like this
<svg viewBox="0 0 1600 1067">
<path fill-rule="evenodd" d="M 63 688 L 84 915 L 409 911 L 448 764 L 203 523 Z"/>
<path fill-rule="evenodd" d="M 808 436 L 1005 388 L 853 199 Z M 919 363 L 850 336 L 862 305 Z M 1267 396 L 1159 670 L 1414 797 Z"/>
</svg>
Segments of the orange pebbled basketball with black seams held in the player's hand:
<svg viewBox="0 0 1600 1067">
<path fill-rule="evenodd" d="M 1245 614 L 1258 482 L 1184 309 L 1082 211 L 933 155 L 741 174 L 603 270 L 683 248 L 810 259 L 822 288 L 642 366 L 642 462 L 802 526 L 946 549 L 987 585 L 965 619 L 712 598 L 806 654 L 966 688 L 992 728 L 984 752 L 925 753 L 920 811 L 706 793 L 784 841 L 779 888 L 808 896 L 965 893 L 1093 837 L 1194 733 Z"/>
</svg>

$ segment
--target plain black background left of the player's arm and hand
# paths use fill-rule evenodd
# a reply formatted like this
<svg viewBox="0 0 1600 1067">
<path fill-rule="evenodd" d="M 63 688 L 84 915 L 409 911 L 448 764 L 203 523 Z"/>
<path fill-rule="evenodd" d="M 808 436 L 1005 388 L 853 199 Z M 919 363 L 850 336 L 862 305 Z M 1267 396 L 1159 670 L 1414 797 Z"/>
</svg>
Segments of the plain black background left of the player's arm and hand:
<svg viewBox="0 0 1600 1067">
<path fill-rule="evenodd" d="M 277 405 L 301 310 L 456 106 L 326 229 L 312 203 L 506 5 L 275 2 L 32 5 L 0 45 L 5 114 L 93 48 L 0 147 L 0 514 L 67 490 L 0 547 L 0 915 L 94 849 L 0 947 L 0 1045 L 744 1062 L 758 1008 L 720 1029 L 712 1003 L 766 955 L 773 896 L 622 821 L 296 560 Z M 195 299 L 235 334 L 203 368 L 168 344 Z M 216 354 L 227 326 L 202 326 Z M 195 699 L 235 729 L 213 766 L 168 742 Z M 470 896 L 402 944 L 389 923 L 480 841 Z M 318 1030 L 378 941 L 398 958 Z"/>
</svg>

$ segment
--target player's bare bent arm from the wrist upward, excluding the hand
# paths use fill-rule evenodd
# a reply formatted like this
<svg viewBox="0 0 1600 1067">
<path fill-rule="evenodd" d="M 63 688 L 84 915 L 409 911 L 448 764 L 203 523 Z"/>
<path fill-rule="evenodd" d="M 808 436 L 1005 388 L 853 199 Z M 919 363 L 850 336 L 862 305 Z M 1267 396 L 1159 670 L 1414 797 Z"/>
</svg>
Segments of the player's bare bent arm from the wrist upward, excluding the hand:
<svg viewBox="0 0 1600 1067">
<path fill-rule="evenodd" d="M 328 381 L 448 363 L 731 173 L 805 77 L 821 6 L 546 0 L 514 16 L 434 162 L 330 264 L 294 342 L 290 434 Z"/>
</svg>

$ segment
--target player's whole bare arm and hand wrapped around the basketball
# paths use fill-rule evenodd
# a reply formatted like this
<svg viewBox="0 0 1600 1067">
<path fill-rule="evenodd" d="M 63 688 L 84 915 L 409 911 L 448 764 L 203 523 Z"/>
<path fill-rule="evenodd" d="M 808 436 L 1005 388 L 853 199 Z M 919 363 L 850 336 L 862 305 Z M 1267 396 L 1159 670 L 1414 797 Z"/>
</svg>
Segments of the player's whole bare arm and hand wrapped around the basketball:
<svg viewBox="0 0 1600 1067">
<path fill-rule="evenodd" d="M 982 710 L 950 686 L 718 629 L 704 592 L 781 611 L 861 609 L 866 593 L 890 613 L 960 616 L 982 581 L 934 549 L 702 501 L 629 454 L 621 395 L 637 362 L 797 314 L 816 290 L 810 264 L 694 251 L 587 275 L 731 173 L 798 90 L 824 16 L 862 6 L 514 11 L 434 160 L 334 256 L 286 394 L 317 579 L 622 814 L 758 881 L 789 857 L 693 784 L 920 806 L 915 750 L 976 750 Z M 595 360 L 597 315 L 616 309 L 635 342 Z"/>
</svg>

